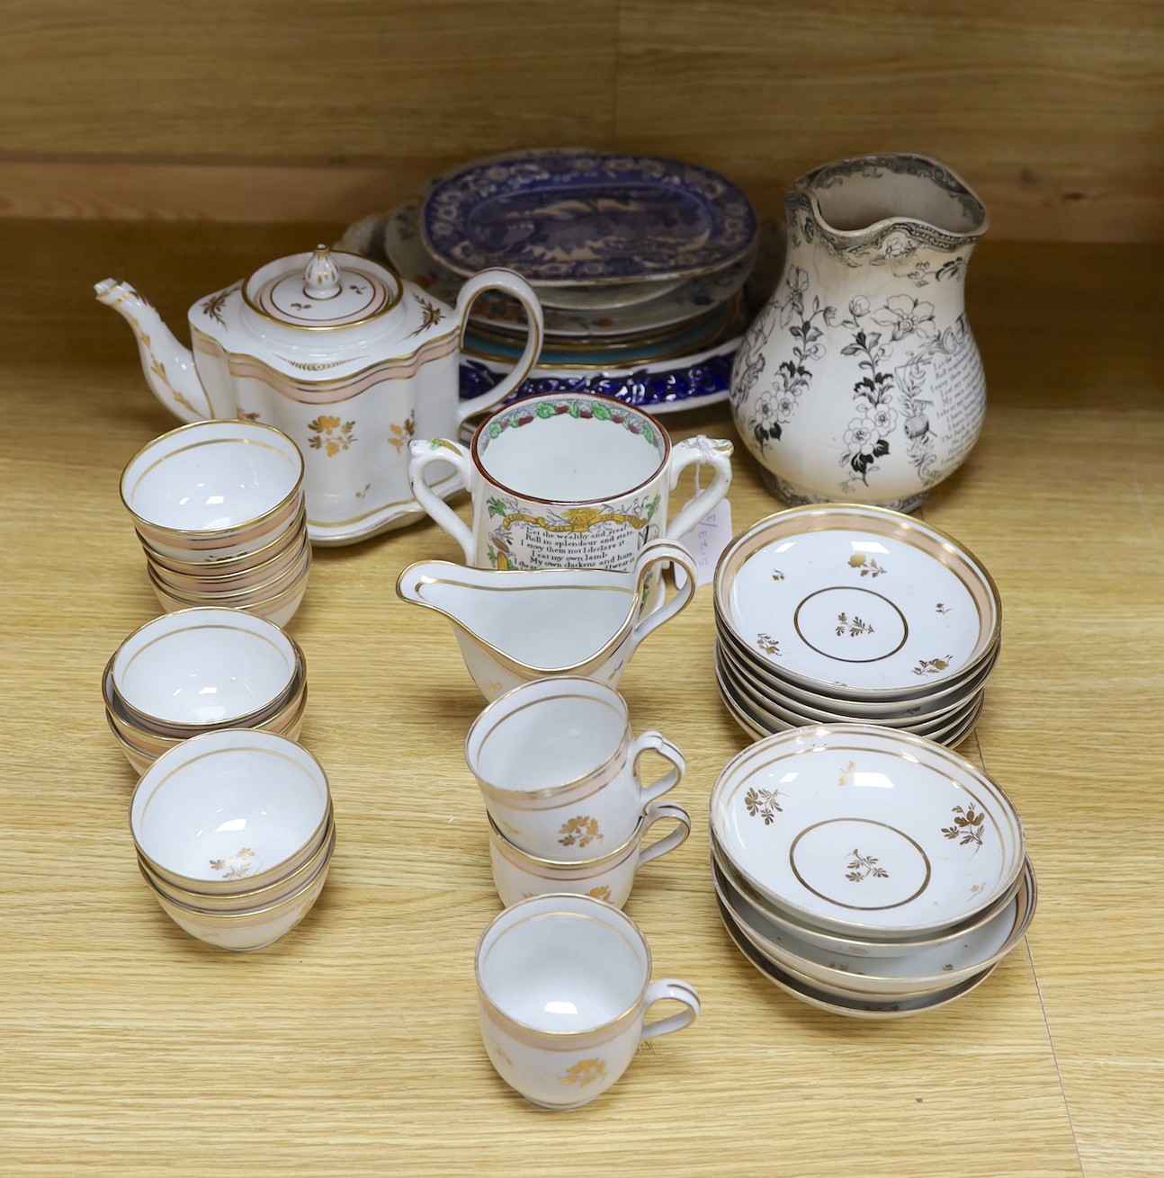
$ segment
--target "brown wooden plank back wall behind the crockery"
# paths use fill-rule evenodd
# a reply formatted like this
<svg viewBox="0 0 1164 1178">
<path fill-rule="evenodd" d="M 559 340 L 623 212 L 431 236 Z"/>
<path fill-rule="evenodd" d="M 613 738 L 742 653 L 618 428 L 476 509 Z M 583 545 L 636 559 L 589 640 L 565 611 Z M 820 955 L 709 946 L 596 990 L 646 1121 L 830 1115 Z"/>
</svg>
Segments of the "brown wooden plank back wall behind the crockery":
<svg viewBox="0 0 1164 1178">
<path fill-rule="evenodd" d="M 0 216 L 353 220 L 517 147 L 681 157 L 775 214 L 911 150 L 1008 238 L 1164 240 L 1158 0 L 0 0 Z"/>
</svg>

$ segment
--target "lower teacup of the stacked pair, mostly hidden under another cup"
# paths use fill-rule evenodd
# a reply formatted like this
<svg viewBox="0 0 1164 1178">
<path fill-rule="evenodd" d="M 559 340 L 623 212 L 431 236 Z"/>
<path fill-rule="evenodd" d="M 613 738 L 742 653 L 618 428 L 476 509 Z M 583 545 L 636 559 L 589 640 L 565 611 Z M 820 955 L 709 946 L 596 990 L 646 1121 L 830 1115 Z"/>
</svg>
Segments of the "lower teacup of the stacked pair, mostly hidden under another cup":
<svg viewBox="0 0 1164 1178">
<path fill-rule="evenodd" d="M 644 847 L 646 833 L 669 819 L 675 828 Z M 594 859 L 545 859 L 515 847 L 492 819 L 489 820 L 489 862 L 501 902 L 508 908 L 531 895 L 568 893 L 589 895 L 621 908 L 630 898 L 635 872 L 687 841 L 692 820 L 682 806 L 652 802 L 639 819 L 634 833 L 621 846 Z"/>
</svg>

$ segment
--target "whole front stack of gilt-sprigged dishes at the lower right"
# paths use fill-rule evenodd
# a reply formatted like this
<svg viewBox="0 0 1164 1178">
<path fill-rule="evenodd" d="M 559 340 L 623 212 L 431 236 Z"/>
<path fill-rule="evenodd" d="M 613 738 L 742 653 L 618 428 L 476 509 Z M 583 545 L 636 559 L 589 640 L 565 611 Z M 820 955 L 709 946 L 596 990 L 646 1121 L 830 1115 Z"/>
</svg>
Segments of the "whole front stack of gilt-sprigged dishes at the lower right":
<svg viewBox="0 0 1164 1178">
<path fill-rule="evenodd" d="M 900 1018 L 980 985 L 1018 945 L 1037 881 L 1003 790 L 955 753 L 874 724 L 779 733 L 710 800 L 720 915 L 793 997 Z"/>
</svg>

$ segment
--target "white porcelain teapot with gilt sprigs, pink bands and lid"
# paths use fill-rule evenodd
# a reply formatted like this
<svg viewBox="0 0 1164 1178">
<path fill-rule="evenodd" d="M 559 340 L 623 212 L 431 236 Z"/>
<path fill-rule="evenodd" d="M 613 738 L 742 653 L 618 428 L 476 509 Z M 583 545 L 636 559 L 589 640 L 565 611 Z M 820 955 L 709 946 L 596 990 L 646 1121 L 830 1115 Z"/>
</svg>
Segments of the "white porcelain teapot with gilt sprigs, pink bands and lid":
<svg viewBox="0 0 1164 1178">
<path fill-rule="evenodd" d="M 450 307 L 370 258 L 324 245 L 194 303 L 192 351 L 127 283 L 106 278 L 94 290 L 133 327 L 146 379 L 177 417 L 258 421 L 299 446 L 316 544 L 350 544 L 422 518 L 409 442 L 456 437 L 465 418 L 517 389 L 542 348 L 541 304 L 512 271 L 475 274 Z M 509 376 L 461 401 L 461 339 L 487 290 L 516 298 L 529 332 Z M 426 474 L 442 498 L 461 489 L 451 465 Z"/>
</svg>

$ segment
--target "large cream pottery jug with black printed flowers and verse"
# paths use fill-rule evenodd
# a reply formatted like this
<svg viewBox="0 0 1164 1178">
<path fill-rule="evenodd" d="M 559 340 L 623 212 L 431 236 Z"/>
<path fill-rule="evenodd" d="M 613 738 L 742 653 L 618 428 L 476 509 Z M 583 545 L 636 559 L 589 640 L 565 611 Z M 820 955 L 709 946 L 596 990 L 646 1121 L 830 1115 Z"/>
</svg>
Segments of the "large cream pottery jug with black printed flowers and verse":
<svg viewBox="0 0 1164 1178">
<path fill-rule="evenodd" d="M 740 437 L 786 503 L 912 511 L 983 425 L 964 284 L 986 210 L 910 154 L 827 164 L 785 207 L 783 273 L 732 372 Z"/>
</svg>

